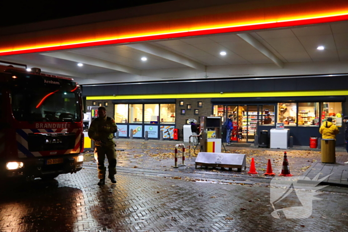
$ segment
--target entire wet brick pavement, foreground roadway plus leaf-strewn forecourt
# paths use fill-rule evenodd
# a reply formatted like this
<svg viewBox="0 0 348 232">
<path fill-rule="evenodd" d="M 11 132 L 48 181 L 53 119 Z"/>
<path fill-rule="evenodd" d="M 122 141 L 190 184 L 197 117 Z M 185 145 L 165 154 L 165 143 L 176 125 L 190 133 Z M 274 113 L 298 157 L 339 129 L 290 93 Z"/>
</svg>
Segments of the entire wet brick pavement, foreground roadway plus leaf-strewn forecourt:
<svg viewBox="0 0 348 232">
<path fill-rule="evenodd" d="M 262 174 L 195 170 L 194 165 L 173 168 L 170 150 L 176 143 L 119 141 L 117 148 L 125 151 L 118 152 L 116 184 L 107 179 L 105 186 L 96 185 L 96 165 L 90 154 L 85 155 L 85 168 L 76 174 L 52 181 L 3 183 L 0 232 L 348 231 L 348 188 L 329 186 L 315 191 L 306 184 Z M 248 158 L 260 160 L 258 169 L 264 165 L 262 160 L 283 153 L 228 150 L 249 151 Z M 299 163 L 290 170 L 300 175 L 305 172 L 300 167 L 318 155 L 289 151 L 289 157 Z M 194 163 L 194 155 L 186 163 Z M 295 191 L 288 191 L 291 186 Z M 282 195 L 286 197 L 278 202 Z"/>
</svg>

